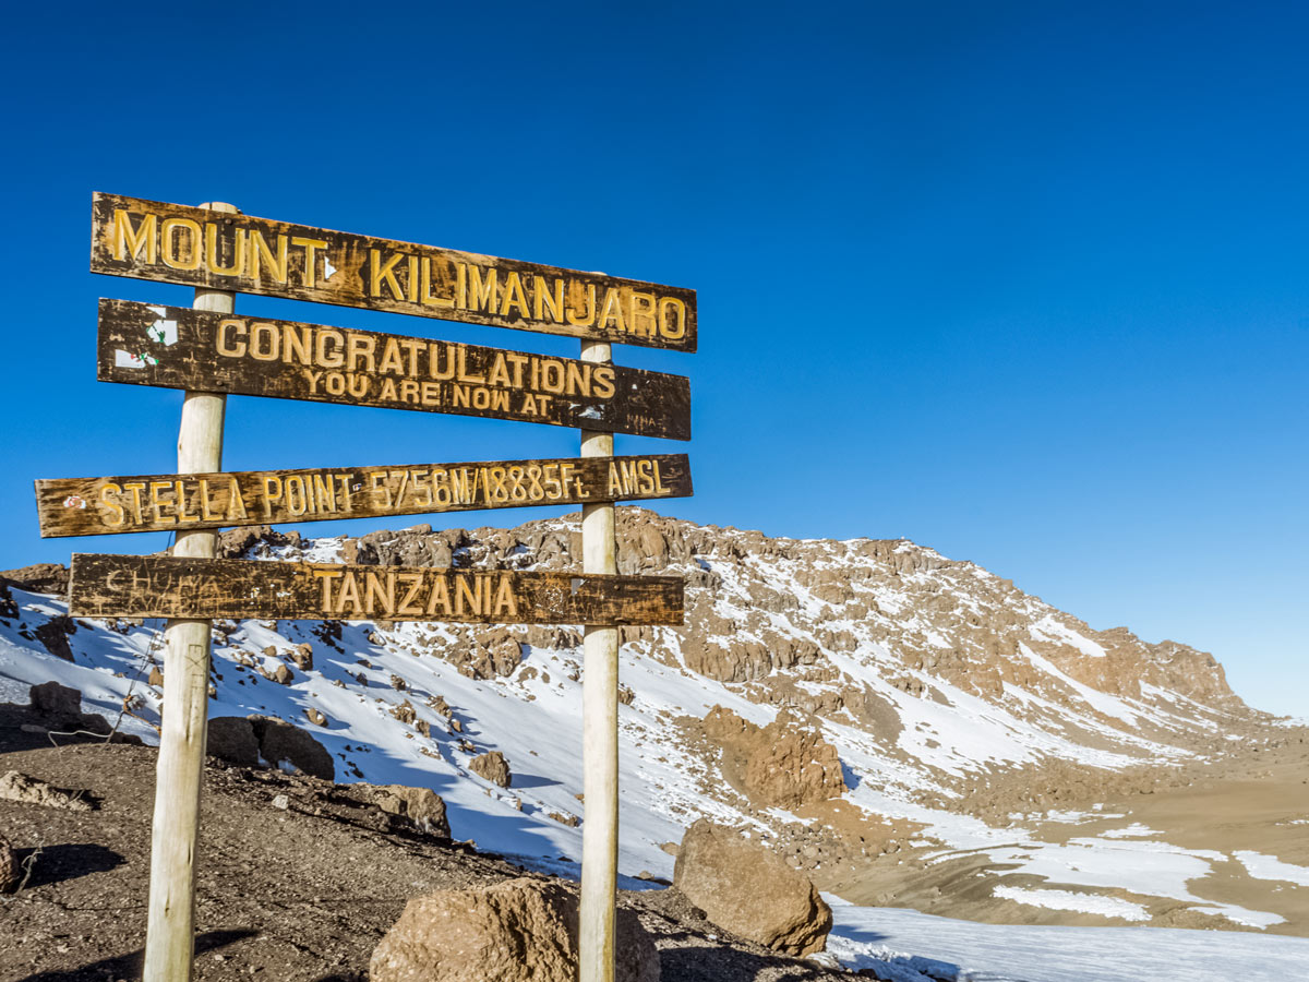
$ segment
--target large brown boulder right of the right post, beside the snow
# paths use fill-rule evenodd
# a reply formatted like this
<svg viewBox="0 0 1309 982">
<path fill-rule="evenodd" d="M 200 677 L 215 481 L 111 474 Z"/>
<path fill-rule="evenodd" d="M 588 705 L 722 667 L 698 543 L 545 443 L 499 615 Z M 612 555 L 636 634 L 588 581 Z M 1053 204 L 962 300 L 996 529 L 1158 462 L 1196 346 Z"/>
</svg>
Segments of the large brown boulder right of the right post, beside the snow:
<svg viewBox="0 0 1309 982">
<path fill-rule="evenodd" d="M 821 952 L 831 907 L 763 846 L 700 818 L 682 837 L 673 885 L 719 927 L 784 955 Z"/>
</svg>

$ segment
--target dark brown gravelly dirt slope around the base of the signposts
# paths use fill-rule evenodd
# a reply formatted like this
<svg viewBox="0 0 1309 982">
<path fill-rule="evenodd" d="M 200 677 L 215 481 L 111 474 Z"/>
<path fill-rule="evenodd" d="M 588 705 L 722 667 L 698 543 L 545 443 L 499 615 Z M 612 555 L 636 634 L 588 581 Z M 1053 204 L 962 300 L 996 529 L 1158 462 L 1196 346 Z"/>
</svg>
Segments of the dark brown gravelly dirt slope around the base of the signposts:
<svg viewBox="0 0 1309 982">
<path fill-rule="evenodd" d="M 98 809 L 0 801 L 0 835 L 34 856 L 0 896 L 0 981 L 111 982 L 140 975 L 145 941 L 154 750 L 77 744 L 0 710 L 0 774 L 85 788 Z M 522 871 L 435 839 L 332 786 L 275 771 L 207 769 L 196 889 L 196 979 L 367 979 L 404 902 Z M 289 807 L 272 801 L 285 795 Z M 654 935 L 665 982 L 801 982 L 851 975 L 732 939 L 675 890 L 623 893 Z"/>
</svg>

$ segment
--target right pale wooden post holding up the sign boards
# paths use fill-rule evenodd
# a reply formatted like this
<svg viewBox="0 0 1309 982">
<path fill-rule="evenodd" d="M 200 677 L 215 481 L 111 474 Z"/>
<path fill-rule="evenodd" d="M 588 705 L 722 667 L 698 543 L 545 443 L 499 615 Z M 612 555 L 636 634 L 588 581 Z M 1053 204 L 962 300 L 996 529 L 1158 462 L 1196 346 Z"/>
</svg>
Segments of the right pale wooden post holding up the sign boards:
<svg viewBox="0 0 1309 982">
<path fill-rule="evenodd" d="M 581 343 L 581 360 L 610 364 L 610 346 Z M 614 435 L 581 431 L 583 457 L 613 457 Z M 614 503 L 581 509 L 583 572 L 618 572 Z M 614 982 L 614 901 L 618 890 L 618 628 L 583 635 L 583 792 L 580 982 Z"/>
</svg>

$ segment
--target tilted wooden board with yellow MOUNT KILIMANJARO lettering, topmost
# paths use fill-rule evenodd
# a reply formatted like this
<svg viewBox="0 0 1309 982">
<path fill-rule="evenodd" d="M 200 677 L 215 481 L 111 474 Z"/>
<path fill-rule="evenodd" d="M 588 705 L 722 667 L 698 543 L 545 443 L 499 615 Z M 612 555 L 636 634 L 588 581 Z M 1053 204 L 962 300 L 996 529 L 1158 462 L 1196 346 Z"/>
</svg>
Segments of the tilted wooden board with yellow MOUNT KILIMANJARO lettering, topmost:
<svg viewBox="0 0 1309 982">
<path fill-rule="evenodd" d="M 695 291 L 96 194 L 92 272 L 695 351 Z"/>
</svg>

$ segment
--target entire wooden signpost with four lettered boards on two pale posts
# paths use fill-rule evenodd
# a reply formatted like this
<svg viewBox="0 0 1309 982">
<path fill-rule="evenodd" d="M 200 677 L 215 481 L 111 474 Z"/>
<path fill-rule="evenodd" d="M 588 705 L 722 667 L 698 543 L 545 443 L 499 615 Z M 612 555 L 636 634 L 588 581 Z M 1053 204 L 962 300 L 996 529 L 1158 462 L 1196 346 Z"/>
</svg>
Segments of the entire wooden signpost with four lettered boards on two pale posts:
<svg viewBox="0 0 1309 982">
<path fill-rule="evenodd" d="M 186 391 L 178 473 L 37 482 L 42 536 L 173 532 L 170 556 L 75 555 L 73 617 L 162 617 L 164 708 L 144 982 L 188 982 L 213 618 L 583 625 L 580 982 L 614 979 L 620 625 L 682 623 L 682 580 L 618 576 L 614 501 L 691 494 L 681 376 L 611 343 L 695 351 L 695 292 L 179 204 L 97 194 L 93 272 L 196 287 L 192 309 L 102 300 L 97 377 Z M 234 313 L 236 292 L 581 338 L 580 360 Z M 228 394 L 581 431 L 581 457 L 223 471 Z M 219 528 L 541 504 L 583 507 L 583 571 L 213 558 Z"/>
</svg>

